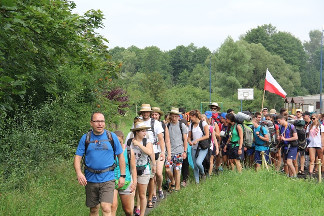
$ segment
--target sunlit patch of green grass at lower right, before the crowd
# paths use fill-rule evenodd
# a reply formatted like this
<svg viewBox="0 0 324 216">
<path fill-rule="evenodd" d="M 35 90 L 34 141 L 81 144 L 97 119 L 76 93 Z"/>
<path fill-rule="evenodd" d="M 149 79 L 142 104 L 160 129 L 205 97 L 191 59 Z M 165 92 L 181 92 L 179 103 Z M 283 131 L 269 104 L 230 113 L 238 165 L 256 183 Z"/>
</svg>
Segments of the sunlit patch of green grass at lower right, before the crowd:
<svg viewBox="0 0 324 216">
<path fill-rule="evenodd" d="M 169 196 L 150 216 L 319 216 L 324 185 L 290 179 L 276 172 L 225 170 L 202 184 Z"/>
</svg>

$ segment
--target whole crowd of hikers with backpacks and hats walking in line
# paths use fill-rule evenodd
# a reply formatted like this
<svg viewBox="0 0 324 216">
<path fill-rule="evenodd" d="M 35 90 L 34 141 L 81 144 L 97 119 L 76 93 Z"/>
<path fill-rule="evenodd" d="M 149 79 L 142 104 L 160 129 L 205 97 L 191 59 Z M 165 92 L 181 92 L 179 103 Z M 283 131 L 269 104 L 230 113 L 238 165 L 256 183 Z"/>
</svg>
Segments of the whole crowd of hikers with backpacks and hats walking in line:
<svg viewBox="0 0 324 216">
<path fill-rule="evenodd" d="M 82 137 L 74 161 L 78 181 L 86 186 L 90 215 L 99 211 L 99 205 L 103 211 L 106 206 L 102 203 L 106 202 L 110 207 L 107 211 L 116 215 L 119 195 L 127 216 L 144 216 L 146 208 L 153 208 L 158 199 L 164 198 L 162 188 L 172 194 L 189 183 L 189 167 L 193 169 L 195 184 L 224 169 L 242 172 L 248 167 L 259 170 L 262 164 L 291 178 L 305 175 L 306 169 L 309 178 L 317 174 L 317 159 L 323 161 L 324 115 L 303 112 L 302 109 L 296 109 L 295 115 L 290 115 L 285 108 L 280 108 L 278 114 L 275 109 L 268 112 L 267 108 L 255 113 L 234 113 L 233 109 L 220 112 L 217 103 L 211 103 L 209 108 L 202 114 L 197 109 L 186 112 L 184 108 L 173 107 L 164 115 L 160 108 L 142 104 L 126 139 L 121 131 L 104 130 L 104 117 L 103 120 L 93 120 L 97 115 L 92 115 L 90 123 L 96 133 L 94 138 L 90 138 L 92 132 Z M 98 135 L 104 135 L 104 138 L 95 137 Z M 87 140 L 88 144 L 85 144 Z M 87 145 L 92 142 L 91 150 L 100 149 L 100 143 L 104 141 L 112 143 L 114 155 L 117 155 L 114 157 L 115 168 L 90 168 L 93 163 L 88 162 Z M 105 147 L 101 149 L 105 150 Z M 123 158 L 120 157 L 122 153 Z M 83 155 L 86 155 L 86 162 L 81 162 Z M 85 175 L 80 173 L 82 163 Z M 100 191 L 101 185 L 91 185 L 97 187 L 91 189 L 89 184 L 102 183 L 96 175 L 108 172 L 106 170 L 115 173 L 114 192 L 113 199 L 104 200 L 106 198 L 101 196 L 106 195 L 98 192 L 95 196 L 93 192 Z M 95 178 L 94 181 L 91 178 Z"/>
</svg>

